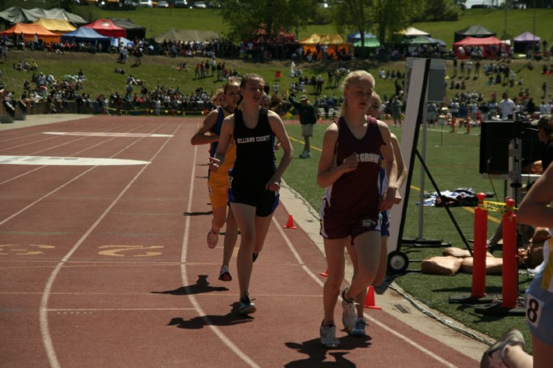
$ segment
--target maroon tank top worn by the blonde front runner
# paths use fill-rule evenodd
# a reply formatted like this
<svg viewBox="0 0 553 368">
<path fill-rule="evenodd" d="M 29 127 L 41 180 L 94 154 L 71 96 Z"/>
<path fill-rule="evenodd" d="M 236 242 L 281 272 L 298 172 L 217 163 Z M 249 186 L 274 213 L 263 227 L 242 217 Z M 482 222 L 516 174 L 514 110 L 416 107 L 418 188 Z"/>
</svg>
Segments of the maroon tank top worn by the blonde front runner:
<svg viewBox="0 0 553 368">
<path fill-rule="evenodd" d="M 326 188 L 324 216 L 344 222 L 378 218 L 378 177 L 382 157 L 380 148 L 384 139 L 374 117 L 368 117 L 364 137 L 357 139 L 346 124 L 344 117 L 338 121 L 336 142 L 336 165 L 344 162 L 354 152 L 359 164 L 354 171 L 345 173 Z"/>
</svg>

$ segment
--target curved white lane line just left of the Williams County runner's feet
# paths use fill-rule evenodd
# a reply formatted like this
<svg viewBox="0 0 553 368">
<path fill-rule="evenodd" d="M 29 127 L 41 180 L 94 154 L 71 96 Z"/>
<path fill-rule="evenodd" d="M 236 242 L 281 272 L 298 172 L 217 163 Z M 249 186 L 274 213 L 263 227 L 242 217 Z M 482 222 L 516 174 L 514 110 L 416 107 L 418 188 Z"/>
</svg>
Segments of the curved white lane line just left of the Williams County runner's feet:
<svg viewBox="0 0 553 368">
<path fill-rule="evenodd" d="M 190 175 L 190 190 L 188 193 L 188 204 L 187 204 L 187 212 L 190 213 L 191 207 L 192 207 L 192 194 L 194 191 L 194 179 L 196 178 L 196 157 L 198 156 L 198 146 L 194 146 L 194 166 L 192 166 L 192 173 Z M 186 271 L 186 260 L 187 260 L 187 251 L 188 251 L 188 237 L 190 233 L 190 216 L 186 217 L 185 220 L 185 233 L 182 235 L 182 253 L 180 255 L 180 274 L 182 276 L 182 284 L 188 285 L 188 275 Z M 189 289 L 189 287 L 187 287 Z M 241 351 L 240 348 L 238 348 L 236 345 L 232 343 L 232 341 L 227 338 L 227 336 L 221 331 L 221 329 L 218 329 L 215 325 L 213 325 L 213 322 L 209 320 L 205 316 L 205 311 L 203 311 L 202 307 L 200 307 L 200 303 L 198 303 L 198 300 L 194 298 L 194 295 L 191 293 L 188 293 L 188 299 L 194 305 L 194 309 L 198 311 L 198 315 L 201 316 L 201 318 L 204 320 L 205 324 L 212 329 L 212 331 L 216 334 L 216 336 L 223 341 L 225 345 L 229 349 L 231 349 L 238 358 L 241 358 L 247 365 L 250 367 L 259 367 L 259 365 L 252 360 L 249 356 L 247 356 L 243 351 Z"/>
</svg>

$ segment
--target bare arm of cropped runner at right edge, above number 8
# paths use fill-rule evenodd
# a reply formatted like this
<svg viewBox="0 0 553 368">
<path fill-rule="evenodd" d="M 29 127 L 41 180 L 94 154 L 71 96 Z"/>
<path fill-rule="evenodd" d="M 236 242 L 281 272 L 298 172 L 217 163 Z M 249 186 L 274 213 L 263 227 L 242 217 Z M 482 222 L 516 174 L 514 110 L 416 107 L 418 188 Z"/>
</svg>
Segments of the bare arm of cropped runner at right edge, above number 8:
<svg viewBox="0 0 553 368">
<path fill-rule="evenodd" d="M 547 204 L 553 202 L 551 188 L 553 188 L 553 165 L 547 168 L 525 195 L 518 208 L 516 220 L 521 224 L 553 227 L 553 207 L 547 207 Z"/>
</svg>

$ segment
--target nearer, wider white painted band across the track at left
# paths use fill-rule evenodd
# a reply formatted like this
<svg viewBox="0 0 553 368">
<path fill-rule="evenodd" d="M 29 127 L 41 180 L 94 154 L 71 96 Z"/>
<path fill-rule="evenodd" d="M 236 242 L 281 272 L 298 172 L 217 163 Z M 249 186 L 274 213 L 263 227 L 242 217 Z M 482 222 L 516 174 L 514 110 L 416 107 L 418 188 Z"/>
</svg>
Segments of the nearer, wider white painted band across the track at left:
<svg viewBox="0 0 553 368">
<path fill-rule="evenodd" d="M 138 159 L 115 159 L 96 157 L 58 157 L 58 156 L 6 156 L 0 155 L 0 164 L 37 165 L 37 166 L 126 166 L 147 165 L 148 161 Z"/>
</svg>

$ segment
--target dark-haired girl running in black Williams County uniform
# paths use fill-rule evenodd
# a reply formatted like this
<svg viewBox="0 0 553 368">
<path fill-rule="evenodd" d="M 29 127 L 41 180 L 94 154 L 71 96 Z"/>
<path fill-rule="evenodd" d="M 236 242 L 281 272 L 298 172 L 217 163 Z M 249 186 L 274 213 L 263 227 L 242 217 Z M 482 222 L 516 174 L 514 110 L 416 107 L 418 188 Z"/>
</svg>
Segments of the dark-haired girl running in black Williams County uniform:
<svg viewBox="0 0 553 368">
<path fill-rule="evenodd" d="M 241 233 L 236 265 L 240 285 L 238 313 L 256 311 L 250 302 L 248 288 L 253 262 L 263 248 L 274 209 L 279 204 L 281 177 L 292 161 L 293 150 L 281 118 L 261 108 L 263 78 L 247 74 L 240 84 L 241 110 L 223 122 L 221 139 L 212 158 L 211 170 L 227 164 L 225 152 L 229 142 L 236 142 L 236 161 L 230 172 L 229 202 Z M 274 139 L 281 142 L 283 157 L 277 168 Z"/>
</svg>

